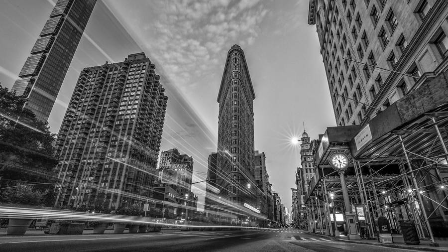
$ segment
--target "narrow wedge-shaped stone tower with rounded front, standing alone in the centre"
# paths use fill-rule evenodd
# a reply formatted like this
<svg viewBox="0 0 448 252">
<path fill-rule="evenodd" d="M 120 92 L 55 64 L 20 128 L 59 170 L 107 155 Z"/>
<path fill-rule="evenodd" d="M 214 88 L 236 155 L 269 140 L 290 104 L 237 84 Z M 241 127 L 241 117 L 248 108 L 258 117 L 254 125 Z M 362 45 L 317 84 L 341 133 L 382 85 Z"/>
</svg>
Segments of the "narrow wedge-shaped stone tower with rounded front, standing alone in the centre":
<svg viewBox="0 0 448 252">
<path fill-rule="evenodd" d="M 232 204 L 256 204 L 254 99 L 244 52 L 239 45 L 233 45 L 227 53 L 217 99 L 220 104 L 217 187 L 221 190 L 220 196 Z"/>
</svg>

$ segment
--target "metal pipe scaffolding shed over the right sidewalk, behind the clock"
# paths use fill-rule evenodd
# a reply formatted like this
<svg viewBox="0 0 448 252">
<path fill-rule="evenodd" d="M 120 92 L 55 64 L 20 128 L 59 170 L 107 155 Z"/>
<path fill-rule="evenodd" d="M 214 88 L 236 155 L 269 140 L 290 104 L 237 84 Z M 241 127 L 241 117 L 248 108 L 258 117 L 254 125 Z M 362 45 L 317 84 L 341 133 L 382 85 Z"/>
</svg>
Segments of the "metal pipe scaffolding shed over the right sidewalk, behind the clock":
<svg viewBox="0 0 448 252">
<path fill-rule="evenodd" d="M 317 178 L 306 192 L 310 226 L 334 235 L 331 216 L 336 229 L 335 213 L 348 212 L 340 179 L 328 160 L 342 152 L 351 159 L 345 172 L 350 204 L 358 218 L 363 215 L 371 237 L 374 219 L 384 216 L 397 233 L 398 221 L 414 221 L 419 237 L 437 246 L 434 237 L 446 236 L 448 229 L 447 77 L 444 73 L 422 85 L 363 127 L 327 128 L 314 151 Z M 366 126 L 370 138 L 360 144 L 356 136 Z"/>
</svg>

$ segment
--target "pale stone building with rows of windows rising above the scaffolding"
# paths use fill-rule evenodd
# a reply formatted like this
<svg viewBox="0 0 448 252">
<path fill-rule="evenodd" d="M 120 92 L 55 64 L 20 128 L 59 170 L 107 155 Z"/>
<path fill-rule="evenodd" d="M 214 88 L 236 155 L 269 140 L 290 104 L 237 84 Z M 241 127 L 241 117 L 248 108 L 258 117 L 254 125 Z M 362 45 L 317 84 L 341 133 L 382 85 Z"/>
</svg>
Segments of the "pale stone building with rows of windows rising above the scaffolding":
<svg viewBox="0 0 448 252">
<path fill-rule="evenodd" d="M 336 124 L 369 121 L 446 71 L 448 1 L 310 0 Z"/>
</svg>

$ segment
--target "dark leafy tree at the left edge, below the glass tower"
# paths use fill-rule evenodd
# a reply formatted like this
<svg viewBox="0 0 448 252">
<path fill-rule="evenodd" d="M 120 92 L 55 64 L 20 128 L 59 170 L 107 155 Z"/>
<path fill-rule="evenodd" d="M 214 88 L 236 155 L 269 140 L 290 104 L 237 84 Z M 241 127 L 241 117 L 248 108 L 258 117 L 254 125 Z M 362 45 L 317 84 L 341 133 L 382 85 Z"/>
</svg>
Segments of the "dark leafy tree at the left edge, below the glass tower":
<svg viewBox="0 0 448 252">
<path fill-rule="evenodd" d="M 52 156 L 55 135 L 47 122 L 37 120 L 31 110 L 23 108 L 26 102 L 25 97 L 0 85 L 0 189 L 40 184 L 32 189 L 42 193 L 54 188 L 52 184 L 57 181 L 57 159 Z M 50 194 L 45 193 L 45 205 L 54 200 Z"/>
</svg>

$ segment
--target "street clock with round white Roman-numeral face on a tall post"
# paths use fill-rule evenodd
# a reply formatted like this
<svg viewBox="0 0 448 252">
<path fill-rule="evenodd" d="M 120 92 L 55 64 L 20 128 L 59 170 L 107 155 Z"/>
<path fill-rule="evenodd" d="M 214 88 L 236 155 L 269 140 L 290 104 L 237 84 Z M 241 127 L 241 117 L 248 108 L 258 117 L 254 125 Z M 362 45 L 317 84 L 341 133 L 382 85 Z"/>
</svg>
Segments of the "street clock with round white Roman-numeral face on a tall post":
<svg viewBox="0 0 448 252">
<path fill-rule="evenodd" d="M 352 212 L 350 201 L 348 198 L 347 185 L 345 184 L 344 173 L 348 168 L 348 156 L 344 153 L 335 153 L 330 156 L 330 165 L 339 173 L 340 186 L 342 190 L 342 197 L 344 199 L 344 219 L 345 225 L 347 227 L 347 237 L 348 240 L 360 240 L 361 237 L 358 235 L 356 230 L 356 214 Z M 335 219 L 336 227 L 336 219 Z"/>
</svg>

